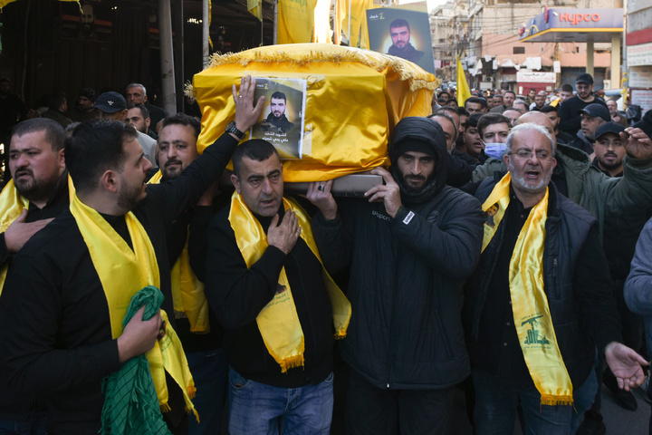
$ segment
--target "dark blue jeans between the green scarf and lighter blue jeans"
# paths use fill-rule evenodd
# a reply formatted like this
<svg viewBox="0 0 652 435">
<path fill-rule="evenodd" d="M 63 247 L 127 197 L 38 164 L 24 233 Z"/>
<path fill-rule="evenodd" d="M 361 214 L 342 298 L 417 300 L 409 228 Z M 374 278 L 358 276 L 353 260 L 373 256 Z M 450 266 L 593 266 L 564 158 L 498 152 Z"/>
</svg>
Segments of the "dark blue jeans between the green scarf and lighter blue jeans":
<svg viewBox="0 0 652 435">
<path fill-rule="evenodd" d="M 186 358 L 197 387 L 197 395 L 193 399 L 193 404 L 200 420 L 197 423 L 195 416 L 190 416 L 188 434 L 220 433 L 228 377 L 225 351 L 218 348 L 206 352 L 186 353 Z"/>
</svg>

